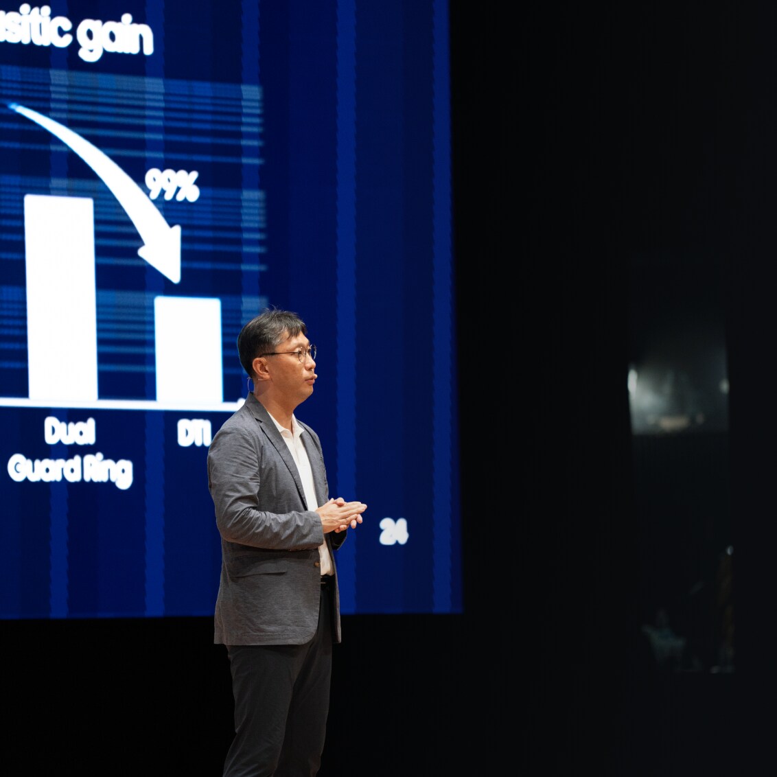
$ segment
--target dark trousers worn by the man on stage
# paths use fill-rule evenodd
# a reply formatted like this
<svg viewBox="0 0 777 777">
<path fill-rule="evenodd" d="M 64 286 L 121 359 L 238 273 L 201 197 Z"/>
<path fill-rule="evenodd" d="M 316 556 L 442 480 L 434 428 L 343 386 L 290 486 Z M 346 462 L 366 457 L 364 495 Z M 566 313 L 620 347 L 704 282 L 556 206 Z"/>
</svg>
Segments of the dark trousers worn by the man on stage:
<svg viewBox="0 0 777 777">
<path fill-rule="evenodd" d="M 227 647 L 235 738 L 224 777 L 313 777 L 321 766 L 332 676 L 332 602 L 321 587 L 319 625 L 305 645 Z"/>
</svg>

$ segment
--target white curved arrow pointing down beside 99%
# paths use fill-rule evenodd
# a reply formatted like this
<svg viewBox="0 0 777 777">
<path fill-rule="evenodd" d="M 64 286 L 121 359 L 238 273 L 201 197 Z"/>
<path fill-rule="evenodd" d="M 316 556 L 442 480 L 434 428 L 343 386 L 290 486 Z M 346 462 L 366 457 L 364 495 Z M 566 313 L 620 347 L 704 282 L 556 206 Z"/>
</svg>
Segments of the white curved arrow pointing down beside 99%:
<svg viewBox="0 0 777 777">
<path fill-rule="evenodd" d="M 9 103 L 9 108 L 56 135 L 103 179 L 103 183 L 127 211 L 127 216 L 131 218 L 143 240 L 144 245 L 138 249 L 138 255 L 177 284 L 181 280 L 180 226 L 170 227 L 141 187 L 113 162 L 113 159 L 81 135 L 19 103 Z"/>
</svg>

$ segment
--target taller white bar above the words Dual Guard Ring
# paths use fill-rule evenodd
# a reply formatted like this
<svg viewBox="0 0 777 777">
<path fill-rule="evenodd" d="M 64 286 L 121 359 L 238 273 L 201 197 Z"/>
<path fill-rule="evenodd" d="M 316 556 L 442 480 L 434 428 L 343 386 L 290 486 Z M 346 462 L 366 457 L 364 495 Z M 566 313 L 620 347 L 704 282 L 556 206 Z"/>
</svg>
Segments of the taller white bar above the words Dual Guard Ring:
<svg viewBox="0 0 777 777">
<path fill-rule="evenodd" d="M 97 399 L 94 207 L 24 197 L 30 399 Z"/>
</svg>

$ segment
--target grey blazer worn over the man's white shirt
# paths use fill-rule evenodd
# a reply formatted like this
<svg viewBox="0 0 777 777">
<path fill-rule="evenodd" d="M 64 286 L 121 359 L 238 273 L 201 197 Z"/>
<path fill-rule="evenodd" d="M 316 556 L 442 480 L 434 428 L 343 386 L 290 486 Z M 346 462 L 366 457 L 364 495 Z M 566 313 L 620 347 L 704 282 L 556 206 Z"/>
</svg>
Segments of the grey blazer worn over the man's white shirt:
<svg viewBox="0 0 777 777">
<path fill-rule="evenodd" d="M 298 420 L 298 423 L 301 423 Z M 329 499 L 321 442 L 305 423 L 319 505 Z M 253 394 L 225 421 L 207 453 L 208 488 L 221 534 L 221 578 L 214 643 L 301 645 L 315 634 L 321 575 L 319 545 L 334 550 L 345 531 L 324 535 L 284 438 Z M 340 642 L 340 592 L 334 574 L 333 641 Z"/>
</svg>

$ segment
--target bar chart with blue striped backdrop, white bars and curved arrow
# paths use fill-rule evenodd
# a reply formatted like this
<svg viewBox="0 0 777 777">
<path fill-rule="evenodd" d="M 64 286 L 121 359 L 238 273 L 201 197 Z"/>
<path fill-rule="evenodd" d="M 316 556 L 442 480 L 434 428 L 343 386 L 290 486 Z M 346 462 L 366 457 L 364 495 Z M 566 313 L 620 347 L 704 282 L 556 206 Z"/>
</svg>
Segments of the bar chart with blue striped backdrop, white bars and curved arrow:
<svg viewBox="0 0 777 777">
<path fill-rule="evenodd" d="M 234 410 L 235 329 L 263 304 L 260 89 L 0 70 L 0 406 Z M 156 148 L 160 115 L 187 129 Z"/>
</svg>

